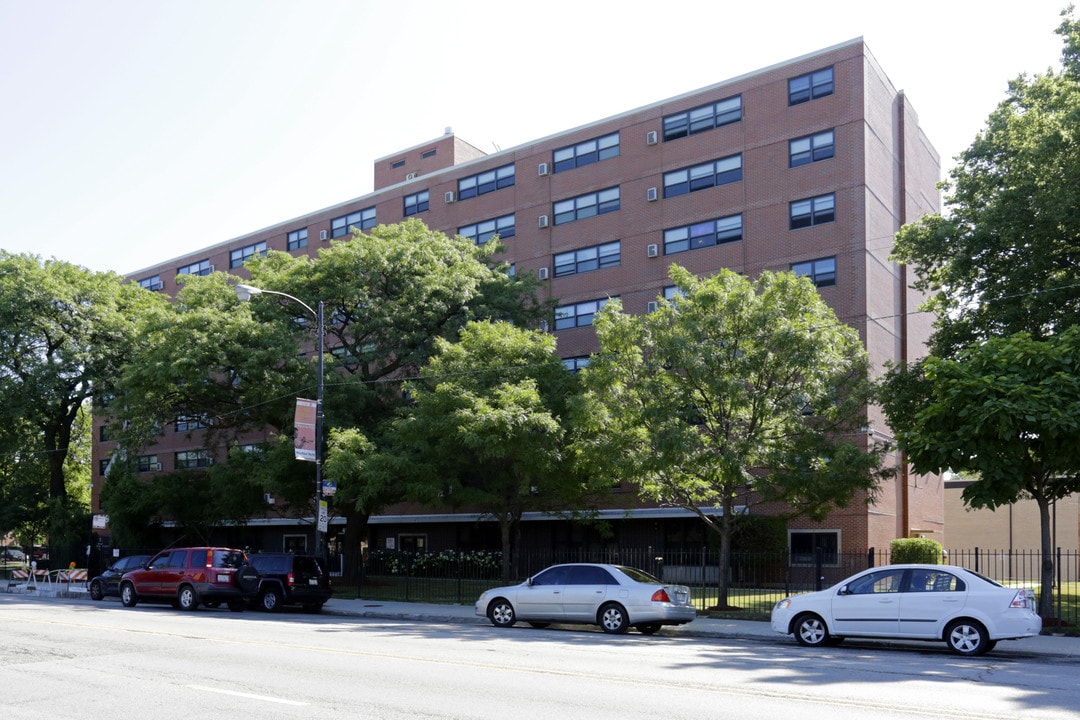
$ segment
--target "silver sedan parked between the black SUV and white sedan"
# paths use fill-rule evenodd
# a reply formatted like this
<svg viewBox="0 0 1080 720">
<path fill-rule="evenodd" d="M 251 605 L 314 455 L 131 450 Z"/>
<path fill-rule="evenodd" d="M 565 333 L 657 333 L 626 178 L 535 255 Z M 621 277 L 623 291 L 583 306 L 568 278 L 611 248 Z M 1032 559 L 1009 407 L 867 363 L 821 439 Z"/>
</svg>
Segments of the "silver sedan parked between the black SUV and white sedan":
<svg viewBox="0 0 1080 720">
<path fill-rule="evenodd" d="M 532 627 L 586 623 L 605 633 L 636 627 L 651 635 L 664 625 L 689 623 L 698 611 L 686 585 L 665 584 L 636 568 L 576 563 L 552 566 L 519 585 L 484 592 L 476 614 L 496 627 L 517 621 Z"/>
</svg>

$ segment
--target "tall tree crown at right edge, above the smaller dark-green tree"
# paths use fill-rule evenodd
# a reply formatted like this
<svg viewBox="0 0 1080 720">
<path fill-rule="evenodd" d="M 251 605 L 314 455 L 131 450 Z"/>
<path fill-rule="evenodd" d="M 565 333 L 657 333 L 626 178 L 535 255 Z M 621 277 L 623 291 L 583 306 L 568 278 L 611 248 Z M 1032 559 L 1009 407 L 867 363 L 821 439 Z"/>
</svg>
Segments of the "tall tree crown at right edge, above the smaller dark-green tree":
<svg viewBox="0 0 1080 720">
<path fill-rule="evenodd" d="M 1063 69 L 1009 83 L 943 184 L 946 216 L 896 235 L 895 259 L 931 294 L 941 357 L 1080 317 L 1080 25 L 1066 18 L 1057 33 Z"/>
</svg>

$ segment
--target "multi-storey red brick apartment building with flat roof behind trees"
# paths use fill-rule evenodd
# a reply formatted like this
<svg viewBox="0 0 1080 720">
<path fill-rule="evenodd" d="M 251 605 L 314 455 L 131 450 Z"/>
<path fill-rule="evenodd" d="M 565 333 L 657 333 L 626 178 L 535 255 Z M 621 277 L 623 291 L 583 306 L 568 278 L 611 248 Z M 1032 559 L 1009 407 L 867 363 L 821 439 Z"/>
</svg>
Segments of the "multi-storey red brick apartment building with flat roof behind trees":
<svg viewBox="0 0 1080 720">
<path fill-rule="evenodd" d="M 626 312 L 648 312 L 678 263 L 702 275 L 720 268 L 810 275 L 880 369 L 923 353 L 931 318 L 916 312 L 920 298 L 889 256 L 902 225 L 939 209 L 939 176 L 937 154 L 906 96 L 856 39 L 494 154 L 447 128 L 377 160 L 369 194 L 130 277 L 172 294 L 178 274 L 237 271 L 268 249 L 314 255 L 352 227 L 416 216 L 476 242 L 498 233 L 516 272 L 536 273 L 557 299 L 549 329 L 571 367 L 596 350 L 590 325 L 607 298 L 619 296 Z M 870 415 L 872 426 L 888 434 Z M 140 471 L 176 468 L 191 450 L 184 436 L 166 431 Z M 95 446 L 95 508 L 111 449 Z M 941 532 L 943 495 L 941 478 L 901 472 L 874 504 L 792 527 L 791 544 L 861 552 Z M 704 536 L 688 512 L 643 507 L 632 492 L 612 504 L 605 517 L 625 546 L 677 549 Z M 465 513 L 414 511 L 372 518 L 373 546 L 475 544 L 485 525 L 494 526 Z M 531 520 L 542 542 L 588 542 L 586 531 L 565 522 Z M 249 530 L 268 549 L 295 547 L 310 534 L 310 518 L 258 519 Z M 330 536 L 339 531 L 332 524 Z"/>
</svg>

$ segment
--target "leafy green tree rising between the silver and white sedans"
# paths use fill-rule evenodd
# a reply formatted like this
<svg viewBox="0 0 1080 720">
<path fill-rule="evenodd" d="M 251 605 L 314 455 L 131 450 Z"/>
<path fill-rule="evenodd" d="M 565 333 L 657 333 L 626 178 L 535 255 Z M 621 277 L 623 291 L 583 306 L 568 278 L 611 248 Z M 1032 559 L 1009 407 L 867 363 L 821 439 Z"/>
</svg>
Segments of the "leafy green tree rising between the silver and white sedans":
<svg viewBox="0 0 1080 720">
<path fill-rule="evenodd" d="M 627 315 L 612 300 L 596 320 L 582 460 L 701 517 L 721 567 L 735 515 L 755 502 L 820 518 L 870 499 L 883 471 L 867 447 L 866 353 L 810 281 L 677 266 L 671 277 L 678 295 L 658 311 Z"/>
</svg>

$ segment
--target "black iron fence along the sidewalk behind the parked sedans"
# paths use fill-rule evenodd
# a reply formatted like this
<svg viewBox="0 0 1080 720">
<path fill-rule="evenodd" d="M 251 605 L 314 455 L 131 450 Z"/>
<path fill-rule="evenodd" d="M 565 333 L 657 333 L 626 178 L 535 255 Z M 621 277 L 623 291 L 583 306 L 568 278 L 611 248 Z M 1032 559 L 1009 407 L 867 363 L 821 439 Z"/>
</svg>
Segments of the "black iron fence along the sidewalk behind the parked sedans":
<svg viewBox="0 0 1080 720">
<path fill-rule="evenodd" d="M 523 554 L 516 580 L 557 562 L 610 562 L 640 568 L 669 583 L 689 585 L 701 611 L 765 619 L 787 595 L 821 589 L 866 568 L 888 565 L 889 552 L 792 556 L 787 553 L 733 553 L 727 568 L 727 596 L 720 596 L 719 553 L 714 548 L 658 553 L 653 548 L 566 551 Z M 1080 624 L 1080 554 L 1054 553 L 1054 582 L 1041 587 L 1039 551 L 949 551 L 947 565 L 980 572 L 1004 585 L 1053 594 L 1055 625 Z M 511 581 L 513 582 L 513 581 Z M 365 599 L 470 604 L 481 592 L 509 584 L 501 578 L 498 552 L 408 553 L 376 551 L 365 559 L 359 595 Z"/>
</svg>

